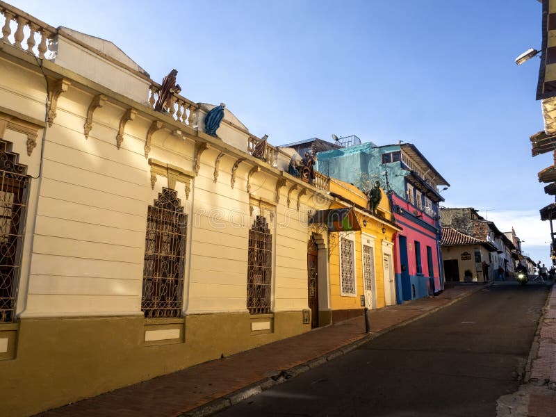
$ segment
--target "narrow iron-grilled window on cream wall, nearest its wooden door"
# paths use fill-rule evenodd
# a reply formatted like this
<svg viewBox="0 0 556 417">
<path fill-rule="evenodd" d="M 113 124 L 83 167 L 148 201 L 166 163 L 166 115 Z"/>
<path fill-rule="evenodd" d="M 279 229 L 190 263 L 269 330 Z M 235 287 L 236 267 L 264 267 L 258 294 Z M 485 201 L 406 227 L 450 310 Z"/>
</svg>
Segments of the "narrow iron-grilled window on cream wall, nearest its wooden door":
<svg viewBox="0 0 556 417">
<path fill-rule="evenodd" d="M 270 313 L 272 235 L 262 215 L 256 216 L 249 231 L 248 257 L 247 310 L 251 314 Z"/>
</svg>

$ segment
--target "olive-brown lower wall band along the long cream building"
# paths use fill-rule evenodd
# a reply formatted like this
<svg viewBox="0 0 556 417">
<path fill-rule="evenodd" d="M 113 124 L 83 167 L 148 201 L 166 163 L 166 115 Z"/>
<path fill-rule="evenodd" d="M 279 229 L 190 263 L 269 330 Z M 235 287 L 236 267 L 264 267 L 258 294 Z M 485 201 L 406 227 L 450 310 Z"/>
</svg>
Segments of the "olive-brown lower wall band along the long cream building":
<svg viewBox="0 0 556 417">
<path fill-rule="evenodd" d="M 311 329 L 286 311 L 274 314 L 274 332 L 252 334 L 252 317 L 186 316 L 183 343 L 155 345 L 140 316 L 23 319 L 15 359 L 0 361 L 0 414 L 29 416 Z"/>
</svg>

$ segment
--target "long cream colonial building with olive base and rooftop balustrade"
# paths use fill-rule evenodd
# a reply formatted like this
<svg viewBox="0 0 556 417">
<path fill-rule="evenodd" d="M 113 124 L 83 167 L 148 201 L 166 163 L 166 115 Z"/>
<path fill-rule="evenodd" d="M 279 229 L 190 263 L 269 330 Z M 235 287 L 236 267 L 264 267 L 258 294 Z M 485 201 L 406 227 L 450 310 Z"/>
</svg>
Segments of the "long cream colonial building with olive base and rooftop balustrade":
<svg viewBox="0 0 556 417">
<path fill-rule="evenodd" d="M 111 42 L 3 2 L 0 13 L 3 415 L 307 332 L 330 322 L 333 305 L 356 307 L 359 237 L 356 293 L 344 297 L 330 285 L 334 240 L 308 224 L 344 206 L 327 177 L 288 174 L 291 154 L 224 106 L 180 95 L 176 74 L 161 85 Z M 357 213 L 382 256 L 395 227 Z"/>
</svg>

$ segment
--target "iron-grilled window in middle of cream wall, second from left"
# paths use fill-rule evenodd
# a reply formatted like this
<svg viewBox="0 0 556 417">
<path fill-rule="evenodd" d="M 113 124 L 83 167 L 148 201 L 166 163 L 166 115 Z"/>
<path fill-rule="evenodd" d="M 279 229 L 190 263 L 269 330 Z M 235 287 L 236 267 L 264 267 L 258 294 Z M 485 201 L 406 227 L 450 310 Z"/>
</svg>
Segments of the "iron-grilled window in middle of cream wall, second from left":
<svg viewBox="0 0 556 417">
<path fill-rule="evenodd" d="M 177 191 L 163 188 L 147 212 L 141 310 L 145 318 L 181 316 L 187 215 Z"/>
</svg>

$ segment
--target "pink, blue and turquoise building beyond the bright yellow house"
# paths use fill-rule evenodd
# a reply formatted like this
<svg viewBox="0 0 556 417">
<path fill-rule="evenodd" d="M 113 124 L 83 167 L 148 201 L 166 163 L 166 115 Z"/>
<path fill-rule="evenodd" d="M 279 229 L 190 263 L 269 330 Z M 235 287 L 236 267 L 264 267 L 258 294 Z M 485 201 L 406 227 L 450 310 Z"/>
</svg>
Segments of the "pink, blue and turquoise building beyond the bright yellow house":
<svg viewBox="0 0 556 417">
<path fill-rule="evenodd" d="M 438 186 L 448 181 L 415 145 L 377 146 L 372 142 L 319 152 L 318 170 L 363 191 L 379 181 L 395 222 L 395 286 L 398 303 L 443 290 Z"/>
</svg>

